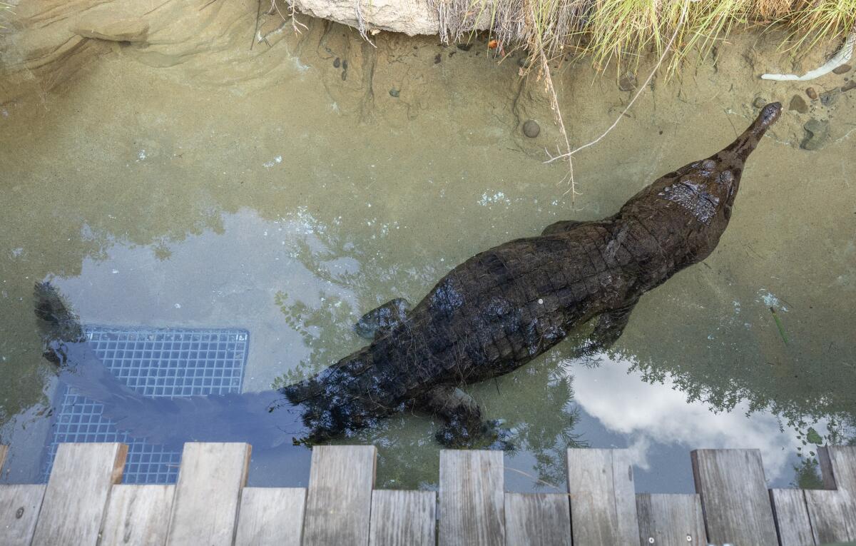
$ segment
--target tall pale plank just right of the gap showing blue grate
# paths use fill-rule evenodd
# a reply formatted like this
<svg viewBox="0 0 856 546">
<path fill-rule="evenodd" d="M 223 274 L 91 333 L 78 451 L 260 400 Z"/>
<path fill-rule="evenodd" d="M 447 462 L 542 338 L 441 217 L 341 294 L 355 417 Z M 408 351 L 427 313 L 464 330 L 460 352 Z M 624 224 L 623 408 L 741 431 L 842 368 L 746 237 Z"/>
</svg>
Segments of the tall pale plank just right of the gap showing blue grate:
<svg viewBox="0 0 856 546">
<path fill-rule="evenodd" d="M 250 451 L 247 443 L 184 444 L 167 544 L 232 543 Z"/>
</svg>

